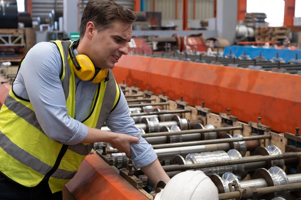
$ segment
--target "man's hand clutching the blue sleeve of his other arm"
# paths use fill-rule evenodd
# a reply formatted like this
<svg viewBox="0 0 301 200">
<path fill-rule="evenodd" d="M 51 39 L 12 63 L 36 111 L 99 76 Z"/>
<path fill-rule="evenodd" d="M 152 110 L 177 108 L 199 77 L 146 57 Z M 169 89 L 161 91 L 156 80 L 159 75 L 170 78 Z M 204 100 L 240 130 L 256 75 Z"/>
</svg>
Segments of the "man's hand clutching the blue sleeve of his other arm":
<svg viewBox="0 0 301 200">
<path fill-rule="evenodd" d="M 120 153 L 126 153 L 126 157 L 131 158 L 131 148 L 130 144 L 137 143 L 139 144 L 139 138 L 129 136 L 123 133 L 114 133 L 114 138 L 109 142 L 113 147 L 118 149 Z"/>
</svg>

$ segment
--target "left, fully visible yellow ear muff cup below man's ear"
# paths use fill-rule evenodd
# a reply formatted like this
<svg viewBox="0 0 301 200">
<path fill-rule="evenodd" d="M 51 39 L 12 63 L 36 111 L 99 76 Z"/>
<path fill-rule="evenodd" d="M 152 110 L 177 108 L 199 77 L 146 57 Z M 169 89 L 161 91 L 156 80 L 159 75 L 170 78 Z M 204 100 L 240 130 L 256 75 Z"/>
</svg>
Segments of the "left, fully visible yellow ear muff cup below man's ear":
<svg viewBox="0 0 301 200">
<path fill-rule="evenodd" d="M 76 75 L 83 81 L 91 80 L 95 74 L 95 67 L 90 58 L 83 54 L 77 55 L 75 57 L 81 67 L 80 70 L 76 70 L 74 64 L 72 64 L 73 70 Z"/>
</svg>

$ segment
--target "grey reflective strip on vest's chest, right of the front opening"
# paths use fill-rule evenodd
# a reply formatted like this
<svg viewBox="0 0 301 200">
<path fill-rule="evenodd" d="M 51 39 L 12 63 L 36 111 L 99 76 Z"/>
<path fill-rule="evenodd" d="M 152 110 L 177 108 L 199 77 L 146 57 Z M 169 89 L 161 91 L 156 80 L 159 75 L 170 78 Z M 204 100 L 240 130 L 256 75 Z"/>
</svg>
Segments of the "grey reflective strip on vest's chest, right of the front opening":
<svg viewBox="0 0 301 200">
<path fill-rule="evenodd" d="M 110 114 L 116 99 L 116 94 L 117 94 L 116 89 L 117 88 L 116 88 L 115 77 L 112 71 L 109 69 L 109 80 L 107 81 L 106 90 L 104 92 L 104 99 L 102 100 L 102 105 L 100 108 L 99 117 L 95 128 L 101 129 L 102 125 L 104 125 L 104 122 L 106 121 L 108 115 Z"/>
</svg>

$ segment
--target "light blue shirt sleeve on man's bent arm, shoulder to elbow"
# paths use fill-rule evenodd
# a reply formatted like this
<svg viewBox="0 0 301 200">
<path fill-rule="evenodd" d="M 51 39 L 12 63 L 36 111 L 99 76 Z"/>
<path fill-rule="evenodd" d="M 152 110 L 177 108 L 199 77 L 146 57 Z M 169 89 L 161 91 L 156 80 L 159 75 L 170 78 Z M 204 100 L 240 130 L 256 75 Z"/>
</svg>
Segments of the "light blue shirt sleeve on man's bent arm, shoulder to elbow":
<svg viewBox="0 0 301 200">
<path fill-rule="evenodd" d="M 23 98 L 27 96 L 39 124 L 50 139 L 75 145 L 86 138 L 88 127 L 67 115 L 60 79 L 61 66 L 61 56 L 55 44 L 36 44 L 24 58 L 14 82 L 14 92 L 20 96 L 23 94 Z"/>
</svg>

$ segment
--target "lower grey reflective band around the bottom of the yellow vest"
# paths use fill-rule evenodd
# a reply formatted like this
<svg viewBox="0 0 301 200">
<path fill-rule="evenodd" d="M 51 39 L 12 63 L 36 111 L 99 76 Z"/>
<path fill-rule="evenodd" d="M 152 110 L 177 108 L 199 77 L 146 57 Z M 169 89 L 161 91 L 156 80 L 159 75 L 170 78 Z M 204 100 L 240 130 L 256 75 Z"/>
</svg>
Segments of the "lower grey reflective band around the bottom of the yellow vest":
<svg viewBox="0 0 301 200">
<path fill-rule="evenodd" d="M 42 175 L 46 175 L 52 167 L 43 163 L 38 158 L 29 154 L 27 151 L 18 147 L 12 142 L 6 135 L 0 131 L 0 147 L 11 157 L 18 160 L 20 163 L 30 167 L 31 169 L 39 172 Z M 64 169 L 57 169 L 51 176 L 58 179 L 71 179 L 76 172 L 70 172 Z"/>
</svg>

